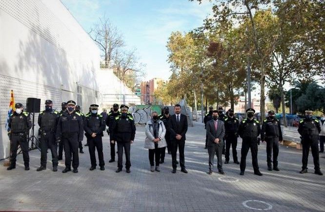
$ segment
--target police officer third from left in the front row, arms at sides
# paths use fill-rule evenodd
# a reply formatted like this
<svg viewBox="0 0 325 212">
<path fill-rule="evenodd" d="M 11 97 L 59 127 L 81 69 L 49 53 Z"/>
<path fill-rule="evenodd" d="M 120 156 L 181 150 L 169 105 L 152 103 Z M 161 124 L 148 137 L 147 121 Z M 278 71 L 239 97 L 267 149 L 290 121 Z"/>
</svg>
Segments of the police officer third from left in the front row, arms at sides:
<svg viewBox="0 0 325 212">
<path fill-rule="evenodd" d="M 77 173 L 79 167 L 78 146 L 83 139 L 83 125 L 81 114 L 75 111 L 75 106 L 75 101 L 67 102 L 67 111 L 60 116 L 57 127 L 57 141 L 62 140 L 64 144 L 65 169 L 62 171 L 63 173 L 71 171 L 70 152 L 73 155 L 73 172 Z"/>
</svg>

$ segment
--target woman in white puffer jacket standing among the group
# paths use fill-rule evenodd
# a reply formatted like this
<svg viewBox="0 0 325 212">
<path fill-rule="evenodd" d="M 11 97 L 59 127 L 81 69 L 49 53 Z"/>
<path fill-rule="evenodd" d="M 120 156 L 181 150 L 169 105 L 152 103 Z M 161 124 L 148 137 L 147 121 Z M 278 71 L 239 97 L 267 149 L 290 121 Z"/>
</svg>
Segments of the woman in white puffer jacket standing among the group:
<svg viewBox="0 0 325 212">
<path fill-rule="evenodd" d="M 163 147 L 167 146 L 165 140 L 166 128 L 163 121 L 159 120 L 158 113 L 153 111 L 151 113 L 151 119 L 147 122 L 145 126 L 145 141 L 144 148 L 149 149 L 149 162 L 151 171 L 160 171 L 159 161 L 161 156 L 161 151 L 164 150 Z M 155 163 L 156 162 L 156 169 Z"/>
</svg>

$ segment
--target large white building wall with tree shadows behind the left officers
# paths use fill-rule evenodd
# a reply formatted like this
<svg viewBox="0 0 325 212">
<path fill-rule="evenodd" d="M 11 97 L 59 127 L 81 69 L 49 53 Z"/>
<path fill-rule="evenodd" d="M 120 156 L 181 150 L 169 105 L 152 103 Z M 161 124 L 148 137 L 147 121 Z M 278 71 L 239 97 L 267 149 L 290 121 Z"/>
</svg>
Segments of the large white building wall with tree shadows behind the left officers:
<svg viewBox="0 0 325 212">
<path fill-rule="evenodd" d="M 0 0 L 0 159 L 9 153 L 11 89 L 16 103 L 41 98 L 43 108 L 52 99 L 60 110 L 62 101 L 78 99 L 87 111 L 100 103 L 99 64 L 99 49 L 60 0 Z"/>
</svg>

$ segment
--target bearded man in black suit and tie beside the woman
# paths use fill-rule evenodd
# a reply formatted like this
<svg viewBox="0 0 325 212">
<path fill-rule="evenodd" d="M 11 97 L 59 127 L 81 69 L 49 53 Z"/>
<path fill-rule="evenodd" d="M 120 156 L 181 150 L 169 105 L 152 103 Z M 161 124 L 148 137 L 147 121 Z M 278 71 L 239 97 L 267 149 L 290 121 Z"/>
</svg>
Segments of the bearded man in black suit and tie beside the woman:
<svg viewBox="0 0 325 212">
<path fill-rule="evenodd" d="M 187 131 L 187 117 L 181 114 L 181 106 L 174 106 L 175 114 L 172 115 L 169 119 L 169 132 L 170 132 L 170 140 L 172 147 L 172 164 L 173 171 L 172 173 L 176 173 L 177 168 L 177 148 L 179 148 L 180 152 L 180 165 L 181 171 L 187 173 L 185 169 L 185 159 L 184 159 L 184 147 L 185 147 L 185 134 Z"/>
</svg>

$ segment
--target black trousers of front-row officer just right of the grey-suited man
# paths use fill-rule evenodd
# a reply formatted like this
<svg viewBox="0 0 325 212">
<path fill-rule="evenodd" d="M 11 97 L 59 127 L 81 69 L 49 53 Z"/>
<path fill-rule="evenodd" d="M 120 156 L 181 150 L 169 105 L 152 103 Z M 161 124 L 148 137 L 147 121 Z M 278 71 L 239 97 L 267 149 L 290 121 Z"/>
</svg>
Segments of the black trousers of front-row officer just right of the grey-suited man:
<svg viewBox="0 0 325 212">
<path fill-rule="evenodd" d="M 242 143 L 242 157 L 241 157 L 241 171 L 244 171 L 246 169 L 246 156 L 248 154 L 250 148 L 250 152 L 252 153 L 252 164 L 254 172 L 259 170 L 259 165 L 257 162 L 257 138 L 243 138 Z"/>
</svg>

